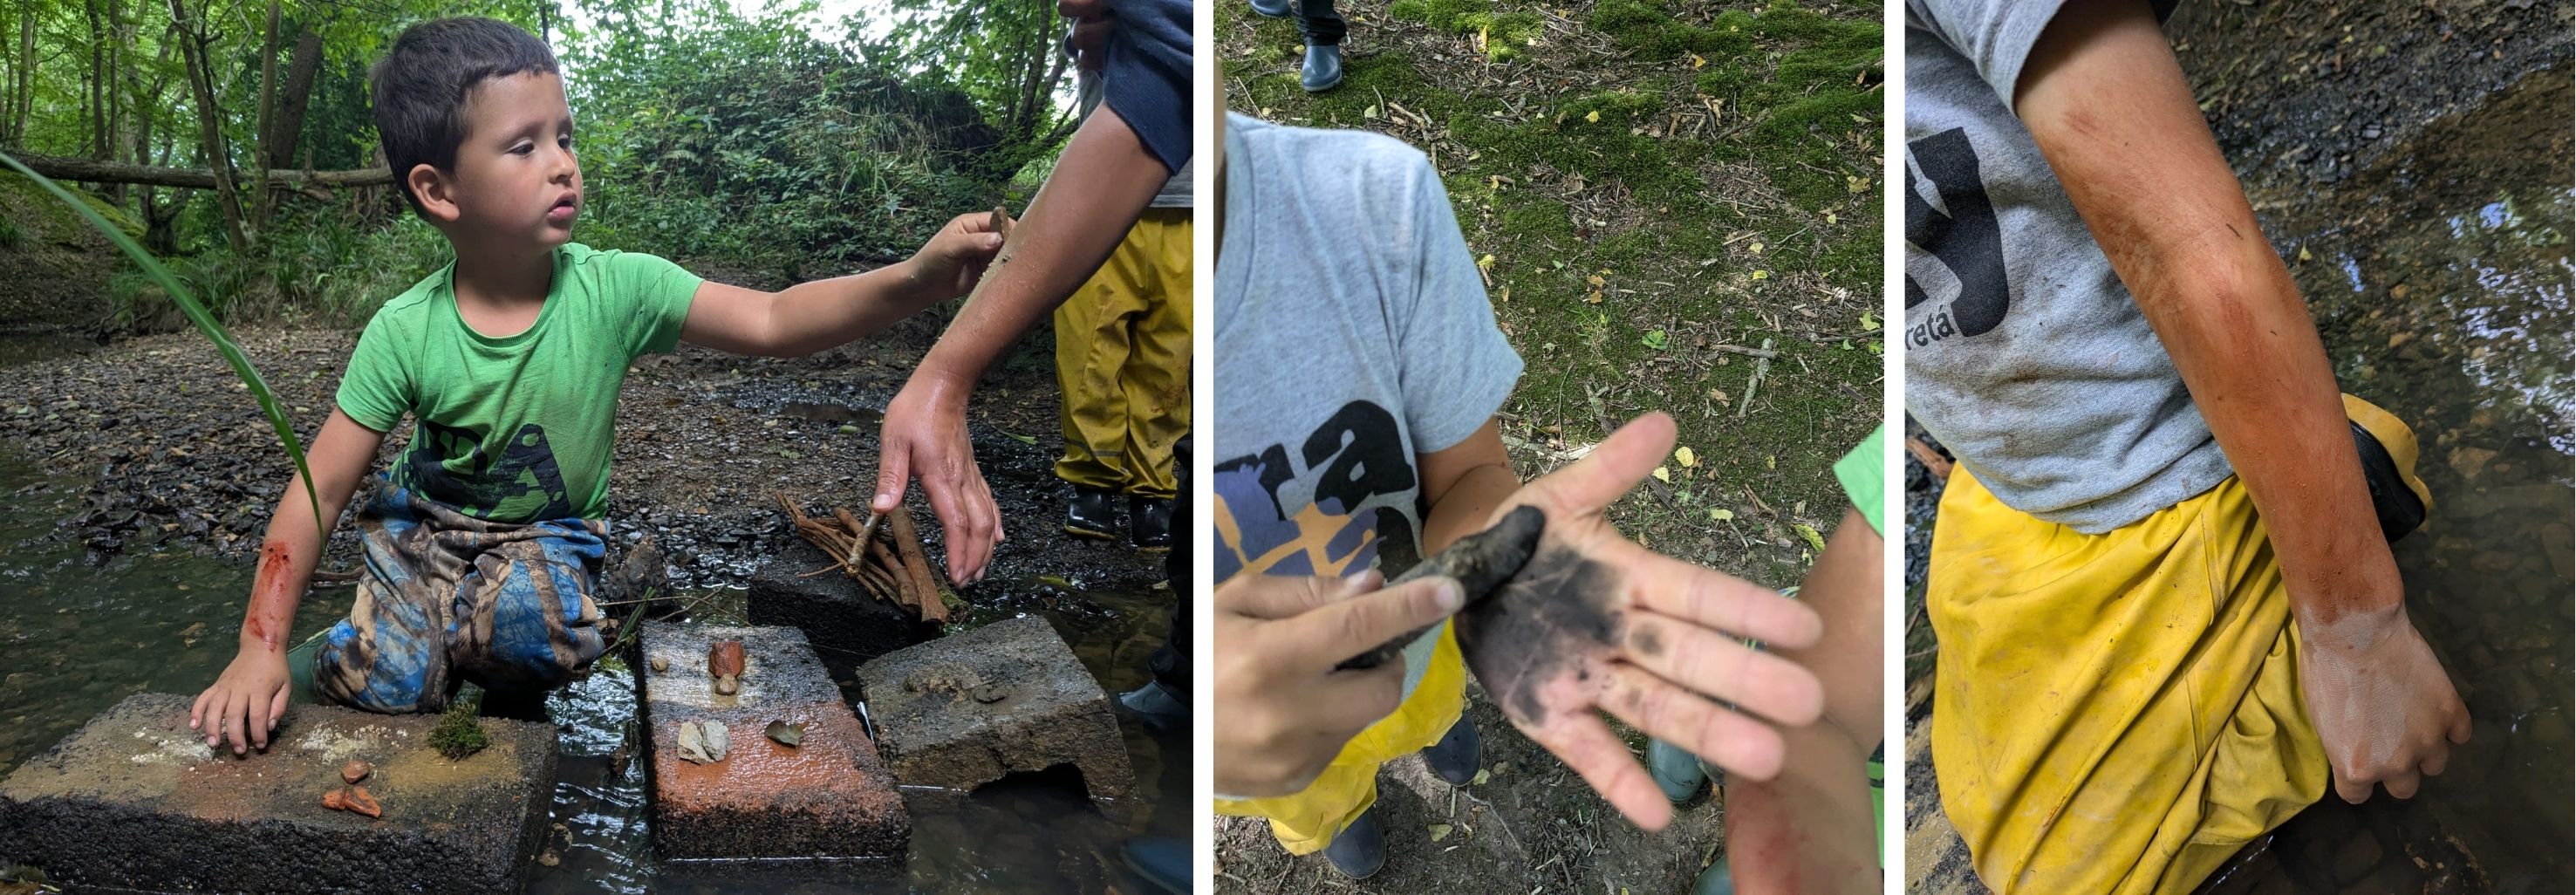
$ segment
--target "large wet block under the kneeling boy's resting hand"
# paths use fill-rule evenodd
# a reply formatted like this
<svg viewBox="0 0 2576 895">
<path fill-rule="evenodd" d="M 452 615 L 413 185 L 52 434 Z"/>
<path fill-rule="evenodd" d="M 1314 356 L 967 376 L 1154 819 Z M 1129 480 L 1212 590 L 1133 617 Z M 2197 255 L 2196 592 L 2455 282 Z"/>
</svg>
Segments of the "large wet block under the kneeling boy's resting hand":
<svg viewBox="0 0 2576 895">
<path fill-rule="evenodd" d="M 265 753 L 209 751 L 191 696 L 137 694 L 0 782 L 0 867 L 149 892 L 518 892 L 554 794 L 554 727 L 484 720 L 466 761 L 435 714 L 296 704 Z M 371 763 L 384 818 L 330 810 Z"/>
</svg>

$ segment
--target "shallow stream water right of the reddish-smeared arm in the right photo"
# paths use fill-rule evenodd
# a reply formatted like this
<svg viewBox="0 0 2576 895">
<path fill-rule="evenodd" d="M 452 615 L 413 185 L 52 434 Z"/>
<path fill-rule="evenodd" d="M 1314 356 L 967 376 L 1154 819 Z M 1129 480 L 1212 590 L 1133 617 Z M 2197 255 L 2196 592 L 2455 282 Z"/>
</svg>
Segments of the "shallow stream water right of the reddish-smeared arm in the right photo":
<svg viewBox="0 0 2576 895">
<path fill-rule="evenodd" d="M 2414 624 L 2476 733 L 2411 802 L 2336 800 L 2293 820 L 2254 892 L 2563 892 L 2571 880 L 2568 70 L 2530 75 L 2427 126 L 2375 170 L 2262 196 L 2352 395 L 2421 441 L 2434 493 L 2401 539 Z M 2300 258 L 2306 253 L 2306 258 Z M 2460 872 L 2455 856 L 2473 861 Z"/>
</svg>

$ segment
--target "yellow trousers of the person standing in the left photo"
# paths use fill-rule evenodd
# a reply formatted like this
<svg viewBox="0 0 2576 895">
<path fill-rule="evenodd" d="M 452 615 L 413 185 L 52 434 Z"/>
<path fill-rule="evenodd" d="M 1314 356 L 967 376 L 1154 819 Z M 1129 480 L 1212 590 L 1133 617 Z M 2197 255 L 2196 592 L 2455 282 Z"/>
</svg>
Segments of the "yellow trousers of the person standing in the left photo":
<svg viewBox="0 0 2576 895">
<path fill-rule="evenodd" d="M 1172 498 L 1172 444 L 1190 431 L 1190 209 L 1146 209 L 1056 307 L 1056 384 L 1074 487 Z"/>
</svg>

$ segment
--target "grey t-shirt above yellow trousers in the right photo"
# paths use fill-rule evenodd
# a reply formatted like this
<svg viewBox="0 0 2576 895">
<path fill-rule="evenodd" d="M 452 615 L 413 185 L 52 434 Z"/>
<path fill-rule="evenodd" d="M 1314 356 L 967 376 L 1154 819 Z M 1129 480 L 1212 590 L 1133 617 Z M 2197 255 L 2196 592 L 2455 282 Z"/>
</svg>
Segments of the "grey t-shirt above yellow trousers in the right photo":
<svg viewBox="0 0 2576 895">
<path fill-rule="evenodd" d="M 2099 534 L 2231 469 L 2012 113 L 2056 13 L 1906 0 L 1906 413 L 2004 506 Z"/>
</svg>

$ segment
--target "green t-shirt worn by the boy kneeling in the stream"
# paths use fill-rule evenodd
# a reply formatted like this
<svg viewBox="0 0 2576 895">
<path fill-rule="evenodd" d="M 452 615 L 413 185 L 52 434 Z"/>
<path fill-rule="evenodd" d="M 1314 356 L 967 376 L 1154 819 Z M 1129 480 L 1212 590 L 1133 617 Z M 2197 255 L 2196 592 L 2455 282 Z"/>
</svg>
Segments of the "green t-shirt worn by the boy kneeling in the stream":
<svg viewBox="0 0 2576 895">
<path fill-rule="evenodd" d="M 526 333 L 489 338 L 456 315 L 456 266 L 376 310 L 340 377 L 340 410 L 374 431 L 410 413 L 394 485 L 489 521 L 608 516 L 618 384 L 680 343 L 701 279 L 636 253 L 572 242 Z"/>
</svg>

